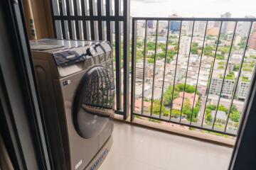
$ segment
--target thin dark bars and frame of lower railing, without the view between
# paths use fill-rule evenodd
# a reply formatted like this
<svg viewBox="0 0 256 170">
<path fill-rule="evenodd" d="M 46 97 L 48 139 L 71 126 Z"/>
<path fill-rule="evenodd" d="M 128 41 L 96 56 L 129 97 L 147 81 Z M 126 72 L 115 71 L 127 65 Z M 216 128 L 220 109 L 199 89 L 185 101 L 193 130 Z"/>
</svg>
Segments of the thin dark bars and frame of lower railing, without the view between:
<svg viewBox="0 0 256 170">
<path fill-rule="evenodd" d="M 220 22 L 220 28 L 219 28 L 219 33 L 218 33 L 218 41 L 217 41 L 218 43 L 217 43 L 217 47 L 215 49 L 215 56 L 214 56 L 213 63 L 215 62 L 216 53 L 218 51 L 218 45 L 219 45 L 219 40 L 220 40 L 220 31 L 221 31 L 223 22 L 228 22 L 228 21 L 235 22 L 235 28 L 234 28 L 234 31 L 233 31 L 233 37 L 232 37 L 232 41 L 231 41 L 231 44 L 230 44 L 230 51 L 228 52 L 228 60 L 226 61 L 227 63 L 226 63 L 225 73 L 223 75 L 223 82 L 225 81 L 225 74 L 226 74 L 227 67 L 228 67 L 228 62 L 229 62 L 229 58 L 230 58 L 231 49 L 233 47 L 233 40 L 235 38 L 235 31 L 237 29 L 237 23 L 238 22 L 249 22 L 250 23 L 250 29 L 247 32 L 248 35 L 247 35 L 247 39 L 246 39 L 245 49 L 244 49 L 244 52 L 242 54 L 242 62 L 240 63 L 239 75 L 238 75 L 238 77 L 235 78 L 235 87 L 234 87 L 234 89 L 236 91 L 236 88 L 238 86 L 238 79 L 240 78 L 240 72 L 241 72 L 241 68 L 242 68 L 242 63 L 243 63 L 243 60 L 244 60 L 244 57 L 245 57 L 245 52 L 246 52 L 247 46 L 248 46 L 248 40 L 249 40 L 251 29 L 252 29 L 252 23 L 256 24 L 255 23 L 256 22 L 256 18 L 154 18 L 154 17 L 134 17 L 134 18 L 132 18 L 132 94 L 131 94 L 131 115 L 130 115 L 130 120 L 133 121 L 134 120 L 134 115 L 137 115 L 137 116 L 141 116 L 141 117 L 144 117 L 144 118 L 150 118 L 150 119 L 160 120 L 160 121 L 164 121 L 164 122 L 168 122 L 168 123 L 175 123 L 175 124 L 178 124 L 178 125 L 184 125 L 184 126 L 187 126 L 189 128 L 196 128 L 196 129 L 199 129 L 199 130 L 208 130 L 210 132 L 217 132 L 217 133 L 220 133 L 220 134 L 223 134 L 223 135 L 236 136 L 236 134 L 234 134 L 233 132 L 231 133 L 231 132 L 227 132 L 226 131 L 228 122 L 225 123 L 225 130 L 222 131 L 222 130 L 215 130 L 214 129 L 218 107 L 216 108 L 216 113 L 215 113 L 215 115 L 213 117 L 214 120 L 213 120 L 212 128 L 203 127 L 203 119 L 204 119 L 204 116 L 205 116 L 204 114 L 206 112 L 206 108 L 204 109 L 204 112 L 201 113 L 201 114 L 203 114 L 202 124 L 198 123 L 196 125 L 191 125 L 191 121 L 188 121 L 188 123 L 183 123 L 181 121 L 181 118 L 180 118 L 180 121 L 171 120 L 171 111 L 170 111 L 170 115 L 169 115 L 170 118 L 168 118 L 168 119 L 161 118 L 161 109 L 162 109 L 162 102 L 163 102 L 163 89 L 162 89 L 162 95 L 161 95 L 160 115 L 159 116 L 152 115 L 152 108 L 153 108 L 152 106 L 153 106 L 153 100 L 154 100 L 154 83 L 152 85 L 152 98 L 151 98 L 151 111 L 150 111 L 150 113 L 144 113 L 144 106 L 143 106 L 144 98 L 142 98 L 142 113 L 138 113 L 137 111 L 134 111 L 135 83 L 136 83 L 136 61 L 137 61 L 137 21 L 145 21 L 144 60 L 143 60 L 144 64 L 145 64 L 145 52 L 146 52 L 146 43 L 147 43 L 147 40 L 146 40 L 147 39 L 147 33 L 146 32 L 147 32 L 147 27 L 148 27 L 147 26 L 147 22 L 148 21 L 155 21 L 156 22 L 156 42 L 154 42 L 156 46 L 157 46 L 159 21 L 166 21 L 168 23 L 170 23 L 170 21 L 180 21 L 181 25 L 182 25 L 183 21 L 193 21 L 193 28 L 194 28 L 194 24 L 195 24 L 196 21 L 206 21 L 206 28 L 205 28 L 204 37 L 203 37 L 204 40 L 203 40 L 203 47 L 202 47 L 201 58 L 203 56 L 203 49 L 204 49 L 204 46 L 205 46 L 205 38 L 206 38 L 206 30 L 207 30 L 207 27 L 208 27 L 208 22 L 210 22 L 210 21 L 219 21 Z M 181 38 L 181 25 L 180 25 L 179 37 L 178 37 L 178 49 L 179 49 L 180 38 Z M 168 28 L 169 28 L 169 26 L 168 26 Z M 168 32 L 169 32 L 169 30 L 168 30 Z M 168 35 L 169 35 L 169 33 L 168 33 Z M 169 40 L 169 38 L 167 37 L 166 45 L 168 43 L 168 40 Z M 192 35 L 191 35 L 191 45 L 192 45 L 192 40 L 193 40 L 193 30 L 192 30 Z M 190 52 L 191 52 L 191 45 L 190 45 Z M 167 50 L 167 48 L 166 48 L 166 50 Z M 190 56 L 190 52 L 189 52 L 189 56 Z M 176 61 L 176 68 L 177 68 L 178 52 L 177 52 L 176 60 L 177 60 Z M 165 60 L 164 61 L 166 62 L 166 56 L 165 56 Z M 156 62 L 156 47 L 155 47 L 155 54 L 154 54 L 154 70 L 155 70 L 155 62 Z M 164 77 L 165 77 L 165 69 L 166 69 L 165 68 L 165 64 L 166 63 L 164 63 Z M 188 57 L 188 64 L 189 64 L 189 57 Z M 201 69 L 201 63 L 199 65 L 198 76 L 200 74 L 200 69 Z M 143 68 L 143 70 L 144 70 L 144 68 Z M 188 72 L 188 68 L 186 69 L 186 73 L 187 72 Z M 211 76 L 211 74 L 213 74 L 212 72 L 213 72 L 213 70 L 210 71 L 210 81 L 209 81 L 210 83 L 212 81 L 212 76 Z M 143 71 L 143 74 L 144 74 L 144 71 Z M 252 75 L 255 75 L 255 74 L 252 74 Z M 144 79 L 145 78 L 143 77 L 143 82 L 142 82 L 142 96 L 143 97 L 144 97 Z M 175 85 L 175 80 L 176 80 L 176 69 L 175 69 L 175 75 L 174 75 L 174 85 Z M 196 83 L 196 87 L 197 87 L 198 86 L 198 78 L 197 78 L 196 81 L 197 81 L 197 83 Z M 153 76 L 153 82 L 154 82 L 154 76 Z M 206 93 L 207 94 L 207 98 L 208 98 L 208 90 L 209 90 L 209 87 L 210 87 L 210 83 L 208 85 L 208 89 L 207 89 L 207 93 Z M 164 86 L 164 78 L 163 78 L 163 86 Z M 186 88 L 186 83 L 185 83 L 184 89 L 185 88 Z M 233 89 L 233 98 L 234 98 L 234 95 L 235 95 L 234 89 Z M 219 103 L 220 103 L 221 93 L 222 93 L 222 89 L 220 91 L 220 95 L 219 95 L 219 98 L 218 98 L 218 106 L 219 106 Z M 174 94 L 174 91 L 173 91 L 173 94 Z M 196 92 L 195 92 L 195 94 L 196 94 Z M 184 98 L 184 95 L 183 95 L 183 98 Z M 231 98 L 231 102 L 233 102 L 233 98 Z M 194 105 L 194 101 L 193 101 L 193 105 Z M 206 105 L 207 105 L 207 99 L 206 99 Z M 172 106 L 172 102 L 171 102 L 171 106 Z M 232 103 L 231 103 L 231 105 L 229 107 L 229 110 L 230 110 L 231 107 L 232 107 Z M 171 109 L 172 109 L 172 107 L 171 107 Z M 192 119 L 192 116 L 193 116 L 193 111 L 192 111 L 191 119 Z M 228 120 L 229 120 L 229 116 L 230 116 L 230 111 L 228 112 Z M 199 125 L 199 124 L 201 124 L 201 125 Z"/>
</svg>

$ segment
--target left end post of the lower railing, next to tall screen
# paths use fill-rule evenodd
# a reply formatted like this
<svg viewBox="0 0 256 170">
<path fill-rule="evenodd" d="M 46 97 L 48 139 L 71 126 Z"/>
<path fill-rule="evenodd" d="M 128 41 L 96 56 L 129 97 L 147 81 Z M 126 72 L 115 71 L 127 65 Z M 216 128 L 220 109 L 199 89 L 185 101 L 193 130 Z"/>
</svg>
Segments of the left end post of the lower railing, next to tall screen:
<svg viewBox="0 0 256 170">
<path fill-rule="evenodd" d="M 131 122 L 134 118 L 135 80 L 136 80 L 136 56 L 137 56 L 137 21 L 132 20 L 132 91 L 131 91 Z"/>
</svg>

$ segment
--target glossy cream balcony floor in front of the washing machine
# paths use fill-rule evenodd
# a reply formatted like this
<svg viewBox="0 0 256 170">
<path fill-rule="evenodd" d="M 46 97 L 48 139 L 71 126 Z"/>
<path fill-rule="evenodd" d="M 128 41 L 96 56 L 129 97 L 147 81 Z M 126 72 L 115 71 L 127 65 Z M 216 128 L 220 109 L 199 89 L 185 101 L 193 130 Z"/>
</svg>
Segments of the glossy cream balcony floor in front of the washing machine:
<svg viewBox="0 0 256 170">
<path fill-rule="evenodd" d="M 233 149 L 126 123 L 114 123 L 100 170 L 228 169 Z"/>
</svg>

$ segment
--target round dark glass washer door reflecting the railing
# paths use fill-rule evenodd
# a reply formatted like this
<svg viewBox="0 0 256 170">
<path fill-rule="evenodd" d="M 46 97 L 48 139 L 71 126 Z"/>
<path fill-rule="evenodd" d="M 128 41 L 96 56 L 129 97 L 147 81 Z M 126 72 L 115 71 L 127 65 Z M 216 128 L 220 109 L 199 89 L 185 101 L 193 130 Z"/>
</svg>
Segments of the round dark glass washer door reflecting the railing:
<svg viewBox="0 0 256 170">
<path fill-rule="evenodd" d="M 85 73 L 73 103 L 73 121 L 78 134 L 95 137 L 114 114 L 114 80 L 104 67 L 93 67 Z"/>
</svg>

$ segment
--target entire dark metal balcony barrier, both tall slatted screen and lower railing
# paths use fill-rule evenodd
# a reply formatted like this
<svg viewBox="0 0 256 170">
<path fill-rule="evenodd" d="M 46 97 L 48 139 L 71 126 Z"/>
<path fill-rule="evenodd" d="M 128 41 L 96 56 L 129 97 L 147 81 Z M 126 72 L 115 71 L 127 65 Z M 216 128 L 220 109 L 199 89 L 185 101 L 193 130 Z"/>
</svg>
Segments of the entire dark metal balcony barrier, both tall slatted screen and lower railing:
<svg viewBox="0 0 256 170">
<path fill-rule="evenodd" d="M 255 72 L 255 18 L 132 18 L 131 55 L 129 1 L 51 2 L 56 38 L 112 42 L 124 119 L 131 107 L 131 120 L 236 135 Z"/>
</svg>

